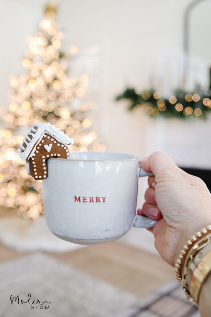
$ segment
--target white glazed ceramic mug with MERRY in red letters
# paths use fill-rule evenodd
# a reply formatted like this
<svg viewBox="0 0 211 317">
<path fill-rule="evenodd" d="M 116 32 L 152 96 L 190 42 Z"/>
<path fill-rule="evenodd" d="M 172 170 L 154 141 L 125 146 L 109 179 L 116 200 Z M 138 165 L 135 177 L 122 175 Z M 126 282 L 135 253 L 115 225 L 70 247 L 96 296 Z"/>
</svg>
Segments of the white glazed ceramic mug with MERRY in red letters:
<svg viewBox="0 0 211 317">
<path fill-rule="evenodd" d="M 70 152 L 70 159 L 47 160 L 43 180 L 45 215 L 59 238 L 78 244 L 116 240 L 132 227 L 156 221 L 136 215 L 138 178 L 151 176 L 137 156 Z"/>
</svg>

